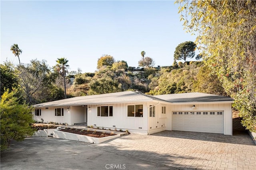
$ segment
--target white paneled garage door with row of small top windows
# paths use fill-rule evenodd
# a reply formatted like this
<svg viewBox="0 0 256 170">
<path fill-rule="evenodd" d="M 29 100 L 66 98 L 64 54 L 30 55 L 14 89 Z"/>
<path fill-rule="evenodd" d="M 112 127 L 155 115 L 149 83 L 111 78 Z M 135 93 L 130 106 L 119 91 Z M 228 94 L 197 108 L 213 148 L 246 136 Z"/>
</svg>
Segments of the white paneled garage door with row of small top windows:
<svg viewBox="0 0 256 170">
<path fill-rule="evenodd" d="M 224 133 L 224 111 L 173 111 L 172 130 Z"/>
</svg>

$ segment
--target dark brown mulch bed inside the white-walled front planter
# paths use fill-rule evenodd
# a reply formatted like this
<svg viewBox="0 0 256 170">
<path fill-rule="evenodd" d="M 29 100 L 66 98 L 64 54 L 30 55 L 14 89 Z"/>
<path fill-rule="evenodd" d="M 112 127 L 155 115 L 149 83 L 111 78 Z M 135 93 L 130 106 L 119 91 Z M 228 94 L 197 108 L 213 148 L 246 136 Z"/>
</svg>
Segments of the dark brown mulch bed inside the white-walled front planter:
<svg viewBox="0 0 256 170">
<path fill-rule="evenodd" d="M 90 137 L 97 137 L 97 138 L 116 135 L 115 133 L 103 133 L 103 132 L 98 132 L 98 131 L 87 131 L 87 130 L 73 129 L 73 128 L 60 129 L 60 131 L 68 132 L 68 133 L 75 133 L 78 135 L 85 135 L 85 136 L 90 136 Z"/>
</svg>

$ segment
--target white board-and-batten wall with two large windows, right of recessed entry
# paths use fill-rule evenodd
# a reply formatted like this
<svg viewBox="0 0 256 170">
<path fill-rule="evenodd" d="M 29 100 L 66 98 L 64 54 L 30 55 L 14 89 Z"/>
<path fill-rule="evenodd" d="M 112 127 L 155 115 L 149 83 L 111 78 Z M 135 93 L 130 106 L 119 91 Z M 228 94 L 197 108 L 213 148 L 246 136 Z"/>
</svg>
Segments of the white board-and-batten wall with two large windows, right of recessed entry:
<svg viewBox="0 0 256 170">
<path fill-rule="evenodd" d="M 143 105 L 143 117 L 128 117 L 128 105 Z M 113 116 L 100 117 L 97 116 L 98 106 L 113 106 Z M 128 129 L 130 133 L 138 133 L 147 135 L 147 104 L 146 103 L 126 103 L 126 104 L 103 104 L 103 105 L 88 105 L 88 126 L 104 127 L 106 129 L 117 130 L 122 129 L 125 131 Z"/>
</svg>

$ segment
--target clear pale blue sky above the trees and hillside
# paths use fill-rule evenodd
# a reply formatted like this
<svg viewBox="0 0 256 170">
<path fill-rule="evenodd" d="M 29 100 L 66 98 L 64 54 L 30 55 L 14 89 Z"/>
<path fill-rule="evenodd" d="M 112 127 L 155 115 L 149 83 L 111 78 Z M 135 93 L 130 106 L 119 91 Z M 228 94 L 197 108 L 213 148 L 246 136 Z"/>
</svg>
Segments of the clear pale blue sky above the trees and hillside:
<svg viewBox="0 0 256 170">
<path fill-rule="evenodd" d="M 195 36 L 183 30 L 174 1 L 2 1 L 1 63 L 69 60 L 70 70 L 94 72 L 104 54 L 138 66 L 141 51 L 171 65 L 175 47 Z M 191 59 L 193 60 L 193 59 Z"/>
</svg>

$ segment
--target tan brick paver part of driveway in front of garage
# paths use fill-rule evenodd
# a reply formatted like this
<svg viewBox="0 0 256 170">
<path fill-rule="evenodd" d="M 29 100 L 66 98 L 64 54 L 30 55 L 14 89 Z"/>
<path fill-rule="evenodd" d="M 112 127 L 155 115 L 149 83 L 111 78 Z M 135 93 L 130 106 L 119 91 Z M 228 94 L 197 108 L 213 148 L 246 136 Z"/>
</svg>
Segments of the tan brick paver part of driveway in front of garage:
<svg viewBox="0 0 256 170">
<path fill-rule="evenodd" d="M 256 169 L 256 146 L 247 133 L 163 131 L 126 135 L 94 147 L 177 169 Z"/>
</svg>

